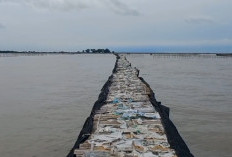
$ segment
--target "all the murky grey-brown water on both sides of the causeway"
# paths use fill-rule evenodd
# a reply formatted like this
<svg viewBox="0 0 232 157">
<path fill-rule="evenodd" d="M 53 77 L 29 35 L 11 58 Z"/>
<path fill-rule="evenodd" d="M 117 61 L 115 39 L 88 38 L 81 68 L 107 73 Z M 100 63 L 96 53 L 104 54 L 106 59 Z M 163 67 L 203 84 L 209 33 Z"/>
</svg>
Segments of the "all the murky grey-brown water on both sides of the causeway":
<svg viewBox="0 0 232 157">
<path fill-rule="evenodd" d="M 14 56 L 0 57 L 0 154 L 63 157 L 111 74 L 115 57 Z M 231 156 L 232 58 L 127 58 L 156 98 L 171 108 L 173 122 L 196 157 Z"/>
</svg>

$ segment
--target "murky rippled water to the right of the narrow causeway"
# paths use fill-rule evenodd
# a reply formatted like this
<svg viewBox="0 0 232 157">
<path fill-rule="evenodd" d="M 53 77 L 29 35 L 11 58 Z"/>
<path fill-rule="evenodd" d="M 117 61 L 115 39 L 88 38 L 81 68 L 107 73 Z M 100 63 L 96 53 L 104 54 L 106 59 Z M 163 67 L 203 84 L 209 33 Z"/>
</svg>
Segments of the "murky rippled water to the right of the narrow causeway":
<svg viewBox="0 0 232 157">
<path fill-rule="evenodd" d="M 196 157 L 229 157 L 232 58 L 215 55 L 127 55 Z"/>
</svg>

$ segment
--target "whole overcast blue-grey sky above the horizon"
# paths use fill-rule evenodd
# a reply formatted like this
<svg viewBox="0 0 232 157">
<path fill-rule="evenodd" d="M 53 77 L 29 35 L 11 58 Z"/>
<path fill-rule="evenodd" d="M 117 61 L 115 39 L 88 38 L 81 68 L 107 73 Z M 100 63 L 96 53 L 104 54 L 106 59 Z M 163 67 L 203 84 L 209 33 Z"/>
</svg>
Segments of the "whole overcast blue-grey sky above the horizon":
<svg viewBox="0 0 232 157">
<path fill-rule="evenodd" d="M 0 50 L 232 52 L 232 0 L 0 0 Z"/>
</svg>

